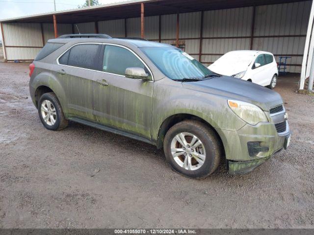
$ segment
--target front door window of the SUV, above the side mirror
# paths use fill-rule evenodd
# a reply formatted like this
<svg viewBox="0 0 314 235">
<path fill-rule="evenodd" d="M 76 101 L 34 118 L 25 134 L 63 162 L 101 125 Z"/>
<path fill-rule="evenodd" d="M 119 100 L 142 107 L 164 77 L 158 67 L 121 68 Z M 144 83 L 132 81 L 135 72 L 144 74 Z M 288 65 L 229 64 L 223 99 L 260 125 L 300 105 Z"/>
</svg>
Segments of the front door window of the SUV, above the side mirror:
<svg viewBox="0 0 314 235">
<path fill-rule="evenodd" d="M 144 64 L 128 49 L 117 46 L 105 46 L 103 71 L 124 75 L 127 68 L 143 68 Z"/>
</svg>

